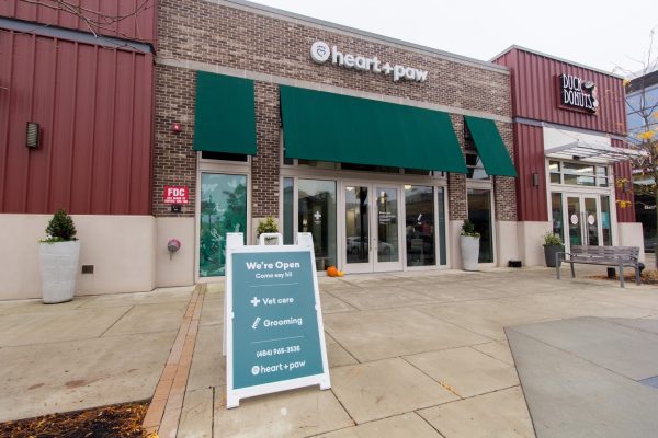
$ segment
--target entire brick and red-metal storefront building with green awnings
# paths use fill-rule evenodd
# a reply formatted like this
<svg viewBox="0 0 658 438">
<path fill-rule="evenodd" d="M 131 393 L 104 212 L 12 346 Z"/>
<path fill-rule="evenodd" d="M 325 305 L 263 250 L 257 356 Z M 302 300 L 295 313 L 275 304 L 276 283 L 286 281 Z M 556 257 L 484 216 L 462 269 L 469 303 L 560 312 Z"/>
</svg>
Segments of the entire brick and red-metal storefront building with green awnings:
<svg viewBox="0 0 658 438">
<path fill-rule="evenodd" d="M 552 230 L 642 244 L 615 208 L 629 196 L 614 184 L 629 176 L 620 78 L 239 0 L 161 0 L 100 41 L 20 3 L 0 10 L 0 299 L 39 297 L 35 242 L 61 207 L 82 241 L 80 295 L 220 280 L 226 233 L 254 243 L 268 217 L 285 243 L 313 233 L 319 272 L 461 268 L 465 219 L 481 266 L 543 265 Z M 522 57 L 544 64 L 531 74 Z M 563 73 L 572 94 L 597 85 L 595 112 L 558 103 Z"/>
</svg>

